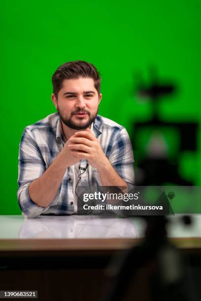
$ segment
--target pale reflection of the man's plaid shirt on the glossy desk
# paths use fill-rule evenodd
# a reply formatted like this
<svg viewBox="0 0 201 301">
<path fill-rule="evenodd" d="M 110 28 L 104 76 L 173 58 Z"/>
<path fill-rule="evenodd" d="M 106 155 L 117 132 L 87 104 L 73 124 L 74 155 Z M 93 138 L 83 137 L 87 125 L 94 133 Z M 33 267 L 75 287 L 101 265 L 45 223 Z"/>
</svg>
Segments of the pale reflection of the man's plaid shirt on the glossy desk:
<svg viewBox="0 0 201 301">
<path fill-rule="evenodd" d="M 98 216 L 48 216 L 27 219 L 20 228 L 20 238 L 118 238 L 138 237 L 131 220 Z"/>
</svg>

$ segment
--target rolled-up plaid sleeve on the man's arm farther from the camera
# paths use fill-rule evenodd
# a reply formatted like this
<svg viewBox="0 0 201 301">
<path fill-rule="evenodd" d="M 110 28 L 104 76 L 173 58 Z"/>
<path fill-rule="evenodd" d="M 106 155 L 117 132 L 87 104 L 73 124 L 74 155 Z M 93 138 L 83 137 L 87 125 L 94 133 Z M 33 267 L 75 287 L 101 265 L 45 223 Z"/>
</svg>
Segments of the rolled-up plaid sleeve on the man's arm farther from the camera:
<svg viewBox="0 0 201 301">
<path fill-rule="evenodd" d="M 23 132 L 18 159 L 18 203 L 25 215 L 36 217 L 49 207 L 37 206 L 29 195 L 29 185 L 45 171 L 44 159 L 29 128 Z"/>
</svg>

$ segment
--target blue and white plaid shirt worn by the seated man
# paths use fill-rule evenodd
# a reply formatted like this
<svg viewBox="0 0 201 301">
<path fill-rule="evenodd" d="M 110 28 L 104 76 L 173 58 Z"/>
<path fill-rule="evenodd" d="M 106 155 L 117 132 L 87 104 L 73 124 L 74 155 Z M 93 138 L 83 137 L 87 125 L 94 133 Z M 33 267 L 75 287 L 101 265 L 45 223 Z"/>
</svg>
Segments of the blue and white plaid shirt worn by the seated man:
<svg viewBox="0 0 201 301">
<path fill-rule="evenodd" d="M 118 175 L 134 184 L 134 157 L 131 141 L 126 129 L 107 118 L 97 116 L 92 124 L 92 132 L 99 140 L 101 148 Z M 61 119 L 58 113 L 51 114 L 25 128 L 19 149 L 18 164 L 18 203 L 28 217 L 40 214 L 76 213 L 77 198 L 75 186 L 78 182 L 79 166 L 86 167 L 86 159 L 69 166 L 59 186 L 55 198 L 48 207 L 37 206 L 29 195 L 29 184 L 39 178 L 65 145 Z M 75 172 L 76 171 L 76 172 Z M 101 185 L 98 170 L 88 166 L 80 176 L 82 186 Z"/>
</svg>

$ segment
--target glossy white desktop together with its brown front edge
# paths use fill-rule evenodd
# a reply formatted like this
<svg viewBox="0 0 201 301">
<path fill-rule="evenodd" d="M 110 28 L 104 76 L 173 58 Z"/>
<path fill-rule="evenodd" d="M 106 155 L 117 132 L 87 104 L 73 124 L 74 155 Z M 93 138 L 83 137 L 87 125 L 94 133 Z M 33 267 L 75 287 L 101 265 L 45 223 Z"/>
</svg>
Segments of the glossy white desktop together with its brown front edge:
<svg viewBox="0 0 201 301">
<path fill-rule="evenodd" d="M 201 248 L 201 215 L 192 216 L 190 226 L 184 225 L 178 215 L 168 219 L 167 236 L 178 247 Z M 125 249 L 143 238 L 145 226 L 140 217 L 41 215 L 30 219 L 24 215 L 1 215 L 0 251 Z"/>
</svg>

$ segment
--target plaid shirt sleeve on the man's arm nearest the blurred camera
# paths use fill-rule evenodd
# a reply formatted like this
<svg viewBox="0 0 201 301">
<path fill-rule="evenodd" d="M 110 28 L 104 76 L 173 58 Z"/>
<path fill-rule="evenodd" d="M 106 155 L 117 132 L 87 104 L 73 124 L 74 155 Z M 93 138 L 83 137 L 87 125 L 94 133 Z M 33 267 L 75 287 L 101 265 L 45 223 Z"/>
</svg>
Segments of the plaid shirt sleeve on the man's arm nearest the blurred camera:
<svg viewBox="0 0 201 301">
<path fill-rule="evenodd" d="M 128 184 L 129 190 L 134 187 L 134 153 L 129 134 L 123 128 L 115 137 L 109 161 L 117 174 Z"/>
</svg>

